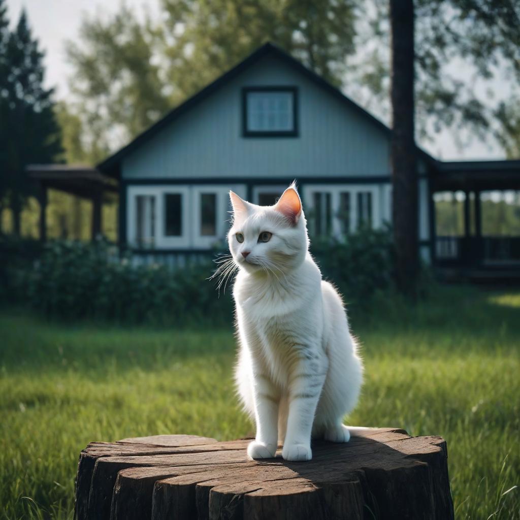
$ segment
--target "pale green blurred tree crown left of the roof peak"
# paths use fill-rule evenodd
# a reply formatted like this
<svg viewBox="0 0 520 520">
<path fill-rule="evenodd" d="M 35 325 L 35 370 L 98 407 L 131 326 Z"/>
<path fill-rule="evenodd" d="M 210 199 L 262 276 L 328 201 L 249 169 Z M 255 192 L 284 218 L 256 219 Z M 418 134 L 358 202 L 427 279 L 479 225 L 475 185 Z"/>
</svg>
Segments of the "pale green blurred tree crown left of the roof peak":
<svg viewBox="0 0 520 520">
<path fill-rule="evenodd" d="M 124 144 L 171 107 L 154 42 L 149 24 L 122 5 L 111 17 L 85 17 L 79 42 L 67 43 L 76 100 L 68 111 L 80 116 L 92 159 L 100 161 L 114 141 Z"/>
</svg>

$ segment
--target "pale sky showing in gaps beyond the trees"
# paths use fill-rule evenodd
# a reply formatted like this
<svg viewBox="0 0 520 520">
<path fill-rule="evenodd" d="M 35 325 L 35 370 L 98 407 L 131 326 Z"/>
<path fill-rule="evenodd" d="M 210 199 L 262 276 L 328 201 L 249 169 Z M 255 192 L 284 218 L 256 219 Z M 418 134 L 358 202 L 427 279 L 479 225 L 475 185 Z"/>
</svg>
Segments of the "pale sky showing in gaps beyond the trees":
<svg viewBox="0 0 520 520">
<path fill-rule="evenodd" d="M 75 40 L 79 34 L 82 16 L 109 14 L 116 11 L 122 0 L 7 0 L 8 16 L 15 23 L 22 7 L 28 12 L 29 23 L 35 36 L 40 40 L 40 47 L 45 50 L 46 87 L 56 87 L 56 99 L 70 96 L 68 82 L 72 74 L 65 59 L 67 40 Z M 157 15 L 158 0 L 125 0 L 129 7 L 134 7 L 140 14 L 149 9 Z M 462 72 L 464 75 L 464 71 Z M 504 94 L 506 86 L 499 81 L 493 85 L 498 95 Z M 448 130 L 435 134 L 433 142 L 422 146 L 434 157 L 443 160 L 459 159 L 503 159 L 504 152 L 492 139 L 488 142 L 473 139 L 460 149 L 456 139 Z"/>
</svg>

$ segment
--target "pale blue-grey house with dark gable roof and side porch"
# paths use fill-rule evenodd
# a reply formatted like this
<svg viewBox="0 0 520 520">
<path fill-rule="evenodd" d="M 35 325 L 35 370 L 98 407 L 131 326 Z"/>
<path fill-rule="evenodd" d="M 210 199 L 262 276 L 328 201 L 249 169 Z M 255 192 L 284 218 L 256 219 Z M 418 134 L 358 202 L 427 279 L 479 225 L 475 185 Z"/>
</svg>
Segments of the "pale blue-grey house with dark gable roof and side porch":
<svg viewBox="0 0 520 520">
<path fill-rule="evenodd" d="M 229 190 L 272 204 L 296 179 L 315 237 L 341 238 L 361 223 L 390 222 L 390 137 L 340 90 L 267 43 L 97 172 L 119 181 L 120 243 L 143 261 L 174 265 L 222 243 Z M 440 162 L 417 153 L 424 261 L 467 267 L 504 260 L 500 247 L 482 238 L 479 192 L 520 189 L 520 161 Z M 464 237 L 435 236 L 433 194 L 441 190 L 466 194 Z M 508 247 L 505 260 L 513 265 L 520 251 L 516 242 Z"/>
</svg>

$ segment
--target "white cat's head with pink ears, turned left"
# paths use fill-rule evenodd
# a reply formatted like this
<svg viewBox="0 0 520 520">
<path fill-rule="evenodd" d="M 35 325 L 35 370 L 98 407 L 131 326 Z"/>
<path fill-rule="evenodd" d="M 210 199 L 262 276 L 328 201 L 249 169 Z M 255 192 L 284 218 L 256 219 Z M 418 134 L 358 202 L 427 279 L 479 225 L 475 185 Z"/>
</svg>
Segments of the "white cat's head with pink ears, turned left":
<svg viewBox="0 0 520 520">
<path fill-rule="evenodd" d="M 229 251 L 240 269 L 288 274 L 300 266 L 309 241 L 302 201 L 293 183 L 274 206 L 258 206 L 229 192 L 233 224 Z"/>
</svg>

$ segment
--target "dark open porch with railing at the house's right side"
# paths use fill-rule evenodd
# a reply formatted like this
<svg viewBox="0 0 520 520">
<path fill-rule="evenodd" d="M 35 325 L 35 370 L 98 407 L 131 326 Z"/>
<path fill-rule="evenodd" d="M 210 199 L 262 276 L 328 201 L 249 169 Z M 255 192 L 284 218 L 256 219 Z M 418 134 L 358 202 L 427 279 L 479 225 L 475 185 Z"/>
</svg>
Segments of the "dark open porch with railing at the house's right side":
<svg viewBox="0 0 520 520">
<path fill-rule="evenodd" d="M 432 200 L 437 198 L 437 204 L 433 202 L 432 253 L 441 273 L 520 279 L 520 161 L 439 162 L 430 186 Z M 451 200 L 462 205 L 462 225 L 458 229 L 454 226 L 449 235 L 443 234 L 446 229 L 439 229 L 440 193 L 448 194 L 448 199 L 451 194 Z M 490 215 L 485 211 L 489 213 L 498 204 L 505 204 L 514 215 L 512 222 L 504 222 L 500 229 L 489 222 Z"/>
</svg>

